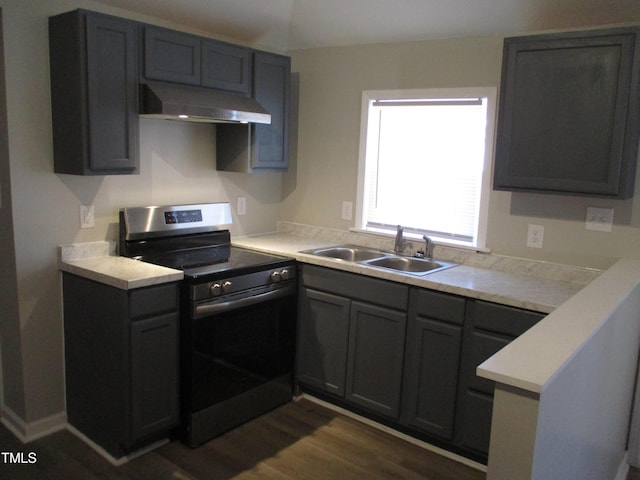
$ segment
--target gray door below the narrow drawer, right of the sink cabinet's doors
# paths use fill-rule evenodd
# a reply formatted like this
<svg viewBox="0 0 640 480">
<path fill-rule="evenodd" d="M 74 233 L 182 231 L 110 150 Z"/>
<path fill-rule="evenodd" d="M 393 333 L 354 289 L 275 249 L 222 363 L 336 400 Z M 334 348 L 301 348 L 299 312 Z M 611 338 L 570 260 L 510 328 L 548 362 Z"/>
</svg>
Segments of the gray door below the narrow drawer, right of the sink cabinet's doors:
<svg viewBox="0 0 640 480">
<path fill-rule="evenodd" d="M 409 321 L 403 423 L 453 438 L 462 327 L 426 317 Z"/>
</svg>

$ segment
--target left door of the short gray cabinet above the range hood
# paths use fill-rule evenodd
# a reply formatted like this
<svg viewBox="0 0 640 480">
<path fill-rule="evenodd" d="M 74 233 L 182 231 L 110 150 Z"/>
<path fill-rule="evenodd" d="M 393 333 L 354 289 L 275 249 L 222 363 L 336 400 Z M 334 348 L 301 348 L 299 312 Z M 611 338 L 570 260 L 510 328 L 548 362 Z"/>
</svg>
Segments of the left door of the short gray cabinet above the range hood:
<svg viewBox="0 0 640 480">
<path fill-rule="evenodd" d="M 144 76 L 150 80 L 200 85 L 200 38 L 186 33 L 144 28 Z"/>
</svg>

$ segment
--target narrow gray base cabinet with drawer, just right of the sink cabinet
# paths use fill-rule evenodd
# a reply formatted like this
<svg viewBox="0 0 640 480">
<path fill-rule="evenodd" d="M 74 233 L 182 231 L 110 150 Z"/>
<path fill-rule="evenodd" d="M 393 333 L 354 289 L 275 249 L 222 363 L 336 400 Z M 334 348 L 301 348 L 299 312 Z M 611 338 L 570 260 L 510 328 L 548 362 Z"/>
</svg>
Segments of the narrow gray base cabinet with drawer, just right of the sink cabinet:
<svg viewBox="0 0 640 480">
<path fill-rule="evenodd" d="M 453 439 L 466 301 L 412 288 L 401 423 Z"/>
</svg>

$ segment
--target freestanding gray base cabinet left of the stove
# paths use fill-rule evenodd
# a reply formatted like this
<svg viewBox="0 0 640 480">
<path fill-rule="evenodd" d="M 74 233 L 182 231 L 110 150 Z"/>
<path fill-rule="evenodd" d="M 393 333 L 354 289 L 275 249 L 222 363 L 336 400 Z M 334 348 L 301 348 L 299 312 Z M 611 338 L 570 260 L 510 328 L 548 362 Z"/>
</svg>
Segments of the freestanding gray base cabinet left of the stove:
<svg viewBox="0 0 640 480">
<path fill-rule="evenodd" d="M 178 424 L 178 284 L 63 274 L 67 417 L 115 458 Z"/>
</svg>

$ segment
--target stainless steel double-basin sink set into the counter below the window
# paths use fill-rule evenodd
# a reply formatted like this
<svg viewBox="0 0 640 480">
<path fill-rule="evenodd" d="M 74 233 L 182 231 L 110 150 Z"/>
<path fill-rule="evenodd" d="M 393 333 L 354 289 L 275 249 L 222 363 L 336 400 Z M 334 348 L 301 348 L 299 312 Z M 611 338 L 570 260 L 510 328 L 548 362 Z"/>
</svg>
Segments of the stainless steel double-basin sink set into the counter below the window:
<svg viewBox="0 0 640 480">
<path fill-rule="evenodd" d="M 402 255 L 356 245 L 336 245 L 333 247 L 305 250 L 301 253 L 359 263 L 369 267 L 393 270 L 412 275 L 426 275 L 427 273 L 438 272 L 457 265 L 457 263 L 429 260 L 426 258 L 404 257 Z"/>
</svg>

